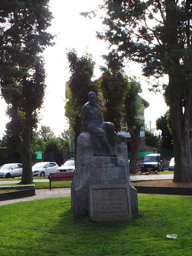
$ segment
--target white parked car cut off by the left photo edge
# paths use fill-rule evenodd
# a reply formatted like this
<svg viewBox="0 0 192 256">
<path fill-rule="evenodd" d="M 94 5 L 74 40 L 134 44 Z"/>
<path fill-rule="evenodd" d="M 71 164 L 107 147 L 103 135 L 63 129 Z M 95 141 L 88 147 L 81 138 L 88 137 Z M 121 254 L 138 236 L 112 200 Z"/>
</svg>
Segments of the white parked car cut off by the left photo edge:
<svg viewBox="0 0 192 256">
<path fill-rule="evenodd" d="M 14 178 L 22 176 L 23 165 L 19 163 L 10 163 L 0 166 L 1 178 Z"/>
</svg>

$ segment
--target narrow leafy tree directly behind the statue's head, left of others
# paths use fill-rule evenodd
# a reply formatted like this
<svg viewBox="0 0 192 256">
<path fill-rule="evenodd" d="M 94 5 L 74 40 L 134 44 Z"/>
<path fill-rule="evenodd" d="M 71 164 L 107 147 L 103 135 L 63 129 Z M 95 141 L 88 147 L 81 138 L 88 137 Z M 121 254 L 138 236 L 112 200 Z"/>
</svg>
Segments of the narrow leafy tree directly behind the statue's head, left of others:
<svg viewBox="0 0 192 256">
<path fill-rule="evenodd" d="M 81 108 L 88 102 L 88 92 L 94 91 L 97 94 L 97 83 L 92 82 L 95 63 L 90 55 L 78 57 L 76 51 L 70 50 L 67 53 L 71 77 L 67 87 L 67 102 L 65 114 L 69 119 L 70 128 L 74 132 L 75 152 L 77 138 L 82 132 Z M 75 154 L 76 155 L 76 154 Z"/>
</svg>

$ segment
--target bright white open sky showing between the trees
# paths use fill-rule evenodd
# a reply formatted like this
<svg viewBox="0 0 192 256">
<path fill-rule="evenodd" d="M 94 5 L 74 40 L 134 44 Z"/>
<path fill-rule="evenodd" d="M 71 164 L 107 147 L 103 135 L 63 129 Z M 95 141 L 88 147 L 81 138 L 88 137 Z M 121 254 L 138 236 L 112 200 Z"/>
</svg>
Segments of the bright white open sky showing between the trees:
<svg viewBox="0 0 192 256">
<path fill-rule="evenodd" d="M 47 88 L 44 106 L 41 109 L 40 125 L 50 126 L 56 136 L 68 127 L 64 117 L 65 82 L 70 77 L 66 48 L 75 48 L 78 56 L 88 50 L 96 62 L 95 77 L 99 78 L 100 65 L 104 65 L 102 55 L 107 53 L 107 43 L 96 39 L 96 31 L 102 31 L 102 24 L 99 18 L 88 19 L 80 16 L 80 12 L 96 9 L 102 0 L 50 0 L 49 6 L 55 19 L 49 32 L 57 34 L 56 45 L 47 48 L 45 51 L 45 62 L 47 72 Z M 147 90 L 146 78 L 142 77 L 141 68 L 137 64 L 130 64 L 126 67 L 128 75 L 135 75 L 141 82 L 143 93 L 141 96 L 150 103 L 145 110 L 145 121 L 152 121 L 152 128 L 155 128 L 155 120 L 163 115 L 167 106 L 160 94 L 155 95 Z M 0 137 L 5 130 L 8 117 L 5 116 L 7 105 L 0 99 Z"/>
</svg>

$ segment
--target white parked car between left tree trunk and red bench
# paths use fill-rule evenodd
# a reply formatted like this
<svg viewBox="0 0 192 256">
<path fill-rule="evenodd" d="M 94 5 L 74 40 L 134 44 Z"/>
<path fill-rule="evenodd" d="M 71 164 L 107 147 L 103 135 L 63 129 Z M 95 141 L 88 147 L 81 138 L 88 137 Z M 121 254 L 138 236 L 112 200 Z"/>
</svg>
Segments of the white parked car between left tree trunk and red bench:
<svg viewBox="0 0 192 256">
<path fill-rule="evenodd" d="M 55 162 L 39 162 L 32 166 L 33 177 L 48 176 L 49 173 L 56 173 L 59 166 Z"/>
</svg>

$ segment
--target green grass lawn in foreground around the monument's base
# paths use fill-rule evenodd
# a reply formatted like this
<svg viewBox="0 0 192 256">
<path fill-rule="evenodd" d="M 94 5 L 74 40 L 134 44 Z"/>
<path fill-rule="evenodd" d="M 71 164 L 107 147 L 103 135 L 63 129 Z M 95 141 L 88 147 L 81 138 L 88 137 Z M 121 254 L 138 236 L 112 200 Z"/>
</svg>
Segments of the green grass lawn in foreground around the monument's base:
<svg viewBox="0 0 192 256">
<path fill-rule="evenodd" d="M 192 197 L 138 195 L 138 205 L 132 221 L 111 223 L 74 216 L 69 197 L 1 206 L 0 256 L 192 255 Z"/>
</svg>

